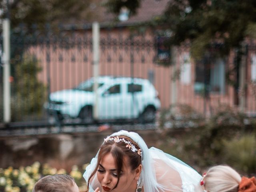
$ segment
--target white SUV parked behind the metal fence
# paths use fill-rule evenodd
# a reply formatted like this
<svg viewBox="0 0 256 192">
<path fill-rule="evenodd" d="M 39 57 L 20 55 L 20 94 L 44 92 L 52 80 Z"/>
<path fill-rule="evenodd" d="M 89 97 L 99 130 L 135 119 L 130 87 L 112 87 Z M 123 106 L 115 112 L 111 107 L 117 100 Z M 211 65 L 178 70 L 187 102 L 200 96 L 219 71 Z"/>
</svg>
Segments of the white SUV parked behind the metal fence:
<svg viewBox="0 0 256 192">
<path fill-rule="evenodd" d="M 93 121 L 94 78 L 82 82 L 74 89 L 50 94 L 46 108 L 60 119 L 81 118 Z M 141 118 L 152 121 L 160 108 L 158 92 L 149 80 L 130 77 L 98 77 L 98 120 Z"/>
</svg>

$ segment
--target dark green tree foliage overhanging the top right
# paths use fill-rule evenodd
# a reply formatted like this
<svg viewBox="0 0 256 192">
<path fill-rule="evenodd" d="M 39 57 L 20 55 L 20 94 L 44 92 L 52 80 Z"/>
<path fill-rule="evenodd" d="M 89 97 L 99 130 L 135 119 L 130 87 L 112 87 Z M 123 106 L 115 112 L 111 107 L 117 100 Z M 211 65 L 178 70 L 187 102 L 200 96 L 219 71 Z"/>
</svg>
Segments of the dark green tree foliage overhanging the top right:
<svg viewBox="0 0 256 192">
<path fill-rule="evenodd" d="M 136 14 L 142 1 L 108 0 L 106 6 L 116 14 L 124 6 L 130 14 Z M 233 48 L 240 49 L 246 37 L 256 37 L 256 1 L 172 0 L 152 24 L 170 28 L 170 44 L 181 45 L 188 40 L 193 58 L 203 58 L 213 46 L 218 46 L 218 54 L 227 55 Z"/>
</svg>

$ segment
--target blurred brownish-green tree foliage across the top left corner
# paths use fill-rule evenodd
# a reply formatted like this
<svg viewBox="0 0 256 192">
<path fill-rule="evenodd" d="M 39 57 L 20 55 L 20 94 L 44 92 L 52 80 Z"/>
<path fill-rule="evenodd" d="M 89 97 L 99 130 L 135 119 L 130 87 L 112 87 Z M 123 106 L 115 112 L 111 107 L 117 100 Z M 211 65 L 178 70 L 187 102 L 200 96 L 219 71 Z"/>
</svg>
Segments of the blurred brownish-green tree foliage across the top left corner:
<svg viewBox="0 0 256 192">
<path fill-rule="evenodd" d="M 7 0 L 0 0 L 2 15 L 7 14 Z M 9 13 L 12 28 L 20 23 L 28 28 L 34 24 L 43 27 L 46 23 L 71 23 L 74 20 L 86 20 L 92 16 L 92 1 L 78 0 L 9 0 Z"/>
</svg>

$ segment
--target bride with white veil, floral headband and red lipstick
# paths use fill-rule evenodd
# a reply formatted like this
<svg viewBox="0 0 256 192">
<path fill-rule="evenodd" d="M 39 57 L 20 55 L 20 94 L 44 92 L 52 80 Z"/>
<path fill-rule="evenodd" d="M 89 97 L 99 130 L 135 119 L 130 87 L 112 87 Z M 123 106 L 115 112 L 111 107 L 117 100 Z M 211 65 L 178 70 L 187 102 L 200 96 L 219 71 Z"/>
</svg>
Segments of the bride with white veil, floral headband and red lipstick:
<svg viewBox="0 0 256 192">
<path fill-rule="evenodd" d="M 193 168 L 157 148 L 148 149 L 137 133 L 124 130 L 104 139 L 84 178 L 87 192 L 202 191 L 202 176 Z"/>
</svg>

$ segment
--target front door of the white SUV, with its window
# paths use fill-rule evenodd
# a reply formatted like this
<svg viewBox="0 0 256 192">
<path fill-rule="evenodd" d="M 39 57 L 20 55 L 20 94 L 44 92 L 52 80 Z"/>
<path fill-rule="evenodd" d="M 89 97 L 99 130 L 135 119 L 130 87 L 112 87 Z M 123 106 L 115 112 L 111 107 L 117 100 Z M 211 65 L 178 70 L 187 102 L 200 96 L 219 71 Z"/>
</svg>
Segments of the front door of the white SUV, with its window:
<svg viewBox="0 0 256 192">
<path fill-rule="evenodd" d="M 101 119 L 121 118 L 124 98 L 122 84 L 108 87 L 100 96 L 99 116 Z"/>
</svg>

